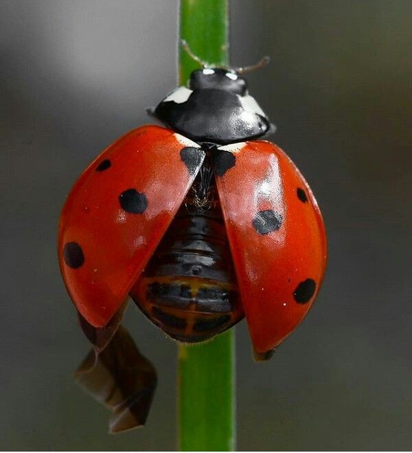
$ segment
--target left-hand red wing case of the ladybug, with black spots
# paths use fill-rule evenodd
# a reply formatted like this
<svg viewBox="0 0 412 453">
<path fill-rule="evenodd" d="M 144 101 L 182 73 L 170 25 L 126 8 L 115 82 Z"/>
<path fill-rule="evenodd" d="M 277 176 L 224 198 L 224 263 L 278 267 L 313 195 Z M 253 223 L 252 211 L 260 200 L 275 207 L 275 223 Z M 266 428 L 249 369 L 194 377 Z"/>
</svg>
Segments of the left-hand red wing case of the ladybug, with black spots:
<svg viewBox="0 0 412 453">
<path fill-rule="evenodd" d="M 182 150 L 192 152 L 185 163 Z M 104 150 L 63 207 L 60 270 L 78 311 L 106 325 L 127 297 L 192 185 L 204 152 L 172 130 L 143 126 Z"/>
</svg>

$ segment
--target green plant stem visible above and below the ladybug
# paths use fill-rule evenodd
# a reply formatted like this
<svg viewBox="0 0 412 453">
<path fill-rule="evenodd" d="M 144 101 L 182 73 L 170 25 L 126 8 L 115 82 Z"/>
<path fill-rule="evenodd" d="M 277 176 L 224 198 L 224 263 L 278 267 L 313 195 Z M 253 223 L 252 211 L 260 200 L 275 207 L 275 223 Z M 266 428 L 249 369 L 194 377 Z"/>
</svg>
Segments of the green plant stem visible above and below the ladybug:
<svg viewBox="0 0 412 453">
<path fill-rule="evenodd" d="M 180 37 L 209 65 L 228 62 L 228 0 L 181 0 Z M 179 82 L 199 64 L 179 47 Z M 179 449 L 235 448 L 234 331 L 201 345 L 179 346 Z"/>
</svg>

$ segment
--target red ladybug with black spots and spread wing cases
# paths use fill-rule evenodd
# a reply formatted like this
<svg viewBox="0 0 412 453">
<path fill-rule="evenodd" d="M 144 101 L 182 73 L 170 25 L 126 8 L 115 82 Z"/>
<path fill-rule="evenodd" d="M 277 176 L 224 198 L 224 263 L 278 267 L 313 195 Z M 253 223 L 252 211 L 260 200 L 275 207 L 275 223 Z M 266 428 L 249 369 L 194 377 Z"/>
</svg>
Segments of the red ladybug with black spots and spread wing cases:
<svg viewBox="0 0 412 453">
<path fill-rule="evenodd" d="M 205 67 L 74 185 L 58 255 L 84 332 L 101 351 L 130 295 L 182 342 L 246 315 L 263 360 L 317 296 L 325 229 L 308 183 L 273 143 L 238 71 Z M 118 340 L 118 339 L 117 339 Z"/>
</svg>

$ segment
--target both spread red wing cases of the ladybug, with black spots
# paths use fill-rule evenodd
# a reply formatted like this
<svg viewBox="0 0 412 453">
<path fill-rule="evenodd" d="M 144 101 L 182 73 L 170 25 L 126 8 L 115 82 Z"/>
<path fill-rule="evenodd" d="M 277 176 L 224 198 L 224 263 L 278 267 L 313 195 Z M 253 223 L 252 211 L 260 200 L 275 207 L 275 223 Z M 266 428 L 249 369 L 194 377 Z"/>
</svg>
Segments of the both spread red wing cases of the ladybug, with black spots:
<svg viewBox="0 0 412 453">
<path fill-rule="evenodd" d="M 215 173 L 240 298 L 255 351 L 266 353 L 317 295 L 326 261 L 323 220 L 308 184 L 277 146 L 246 141 L 218 149 L 231 155 Z M 173 130 L 142 126 L 80 176 L 62 210 L 58 254 L 71 299 L 91 325 L 103 327 L 122 305 L 204 157 Z"/>
</svg>

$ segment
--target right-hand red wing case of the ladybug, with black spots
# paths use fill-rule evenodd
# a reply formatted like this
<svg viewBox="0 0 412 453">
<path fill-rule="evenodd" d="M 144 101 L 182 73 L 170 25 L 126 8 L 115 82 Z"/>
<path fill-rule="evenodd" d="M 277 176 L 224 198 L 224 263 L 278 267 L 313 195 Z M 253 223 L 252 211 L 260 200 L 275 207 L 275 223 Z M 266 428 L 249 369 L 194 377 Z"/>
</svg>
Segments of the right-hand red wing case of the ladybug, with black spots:
<svg viewBox="0 0 412 453">
<path fill-rule="evenodd" d="M 317 296 L 325 229 L 308 183 L 282 150 L 268 141 L 229 148 L 235 161 L 216 185 L 253 346 L 265 353 Z"/>
</svg>

